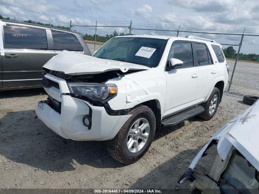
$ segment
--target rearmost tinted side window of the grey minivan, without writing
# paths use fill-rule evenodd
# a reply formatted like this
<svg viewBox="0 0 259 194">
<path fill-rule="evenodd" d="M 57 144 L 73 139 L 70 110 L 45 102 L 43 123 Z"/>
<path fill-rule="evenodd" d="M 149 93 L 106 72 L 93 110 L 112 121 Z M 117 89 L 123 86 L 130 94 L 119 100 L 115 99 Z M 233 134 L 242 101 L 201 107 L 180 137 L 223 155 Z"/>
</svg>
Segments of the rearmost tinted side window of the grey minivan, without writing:
<svg viewBox="0 0 259 194">
<path fill-rule="evenodd" d="M 54 49 L 67 51 L 83 51 L 83 48 L 74 34 L 51 30 Z"/>
</svg>

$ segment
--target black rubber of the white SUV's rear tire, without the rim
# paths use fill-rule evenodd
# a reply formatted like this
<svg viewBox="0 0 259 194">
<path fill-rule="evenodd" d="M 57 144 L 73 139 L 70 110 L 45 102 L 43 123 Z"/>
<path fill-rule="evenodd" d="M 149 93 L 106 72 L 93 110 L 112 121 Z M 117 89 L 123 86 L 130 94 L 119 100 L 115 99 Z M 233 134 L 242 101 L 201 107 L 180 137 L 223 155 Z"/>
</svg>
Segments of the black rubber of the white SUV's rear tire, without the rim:
<svg viewBox="0 0 259 194">
<path fill-rule="evenodd" d="M 211 105 L 211 100 L 214 95 L 217 95 L 217 103 L 215 110 L 212 112 L 212 114 L 209 112 L 210 105 Z M 204 107 L 205 111 L 199 114 L 199 117 L 204 119 L 204 120 L 211 120 L 212 117 L 215 115 L 217 112 L 218 106 L 219 106 L 219 100 L 220 100 L 220 92 L 218 88 L 213 88 L 211 95 L 209 96 L 208 100 L 201 105 Z"/>
</svg>

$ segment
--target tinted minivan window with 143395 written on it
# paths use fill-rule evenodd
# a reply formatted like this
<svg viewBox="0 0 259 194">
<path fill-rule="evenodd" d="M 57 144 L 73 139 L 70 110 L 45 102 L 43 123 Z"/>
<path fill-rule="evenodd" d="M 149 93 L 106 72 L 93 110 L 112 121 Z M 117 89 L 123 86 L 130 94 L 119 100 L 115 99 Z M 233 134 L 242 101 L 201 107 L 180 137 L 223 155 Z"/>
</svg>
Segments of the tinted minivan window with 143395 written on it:
<svg viewBox="0 0 259 194">
<path fill-rule="evenodd" d="M 47 49 L 46 31 L 14 25 L 4 26 L 5 48 Z"/>
</svg>

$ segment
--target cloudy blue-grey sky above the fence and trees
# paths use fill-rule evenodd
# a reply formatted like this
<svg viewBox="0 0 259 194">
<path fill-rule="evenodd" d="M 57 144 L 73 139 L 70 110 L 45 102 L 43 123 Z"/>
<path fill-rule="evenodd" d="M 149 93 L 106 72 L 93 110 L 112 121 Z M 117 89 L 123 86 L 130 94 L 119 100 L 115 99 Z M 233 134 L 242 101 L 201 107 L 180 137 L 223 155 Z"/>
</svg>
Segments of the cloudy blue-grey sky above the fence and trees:
<svg viewBox="0 0 259 194">
<path fill-rule="evenodd" d="M 76 25 L 95 25 L 95 21 L 98 21 L 98 25 L 107 25 L 107 21 L 113 21 L 110 24 L 125 26 L 97 27 L 97 34 L 100 36 L 112 34 L 114 30 L 119 34 L 129 33 L 130 21 L 132 34 L 176 36 L 176 32 L 142 29 L 177 30 L 181 25 L 182 31 L 205 30 L 242 34 L 246 28 L 246 34 L 259 35 L 258 11 L 259 0 L 0 0 L 0 15 L 10 19 L 15 17 L 18 21 L 30 19 L 68 27 L 71 20 L 71 30 L 91 35 L 95 33 L 95 27 Z M 179 32 L 181 37 L 189 34 Z M 192 35 L 232 45 L 238 45 L 241 39 L 241 36 L 235 35 Z M 241 52 L 259 53 L 258 42 L 259 36 L 245 36 Z M 223 45 L 223 48 L 226 47 L 228 45 Z M 234 46 L 234 49 L 238 50 L 238 46 Z"/>
</svg>

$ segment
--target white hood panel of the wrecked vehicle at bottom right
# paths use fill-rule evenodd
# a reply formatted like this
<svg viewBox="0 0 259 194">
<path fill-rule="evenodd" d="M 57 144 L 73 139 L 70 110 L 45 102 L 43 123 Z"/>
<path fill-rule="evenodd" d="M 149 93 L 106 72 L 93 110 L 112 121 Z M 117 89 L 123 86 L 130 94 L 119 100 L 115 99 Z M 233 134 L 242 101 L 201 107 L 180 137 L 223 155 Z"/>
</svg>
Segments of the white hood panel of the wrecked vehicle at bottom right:
<svg viewBox="0 0 259 194">
<path fill-rule="evenodd" d="M 223 161 L 227 158 L 230 150 L 236 149 L 259 171 L 258 137 L 259 100 L 248 108 L 246 112 L 219 129 L 193 159 L 189 170 L 194 169 L 203 154 L 213 144 L 212 141 L 218 140 L 217 151 Z M 186 181 L 186 177 L 183 177 L 179 180 L 180 184 Z"/>
</svg>

